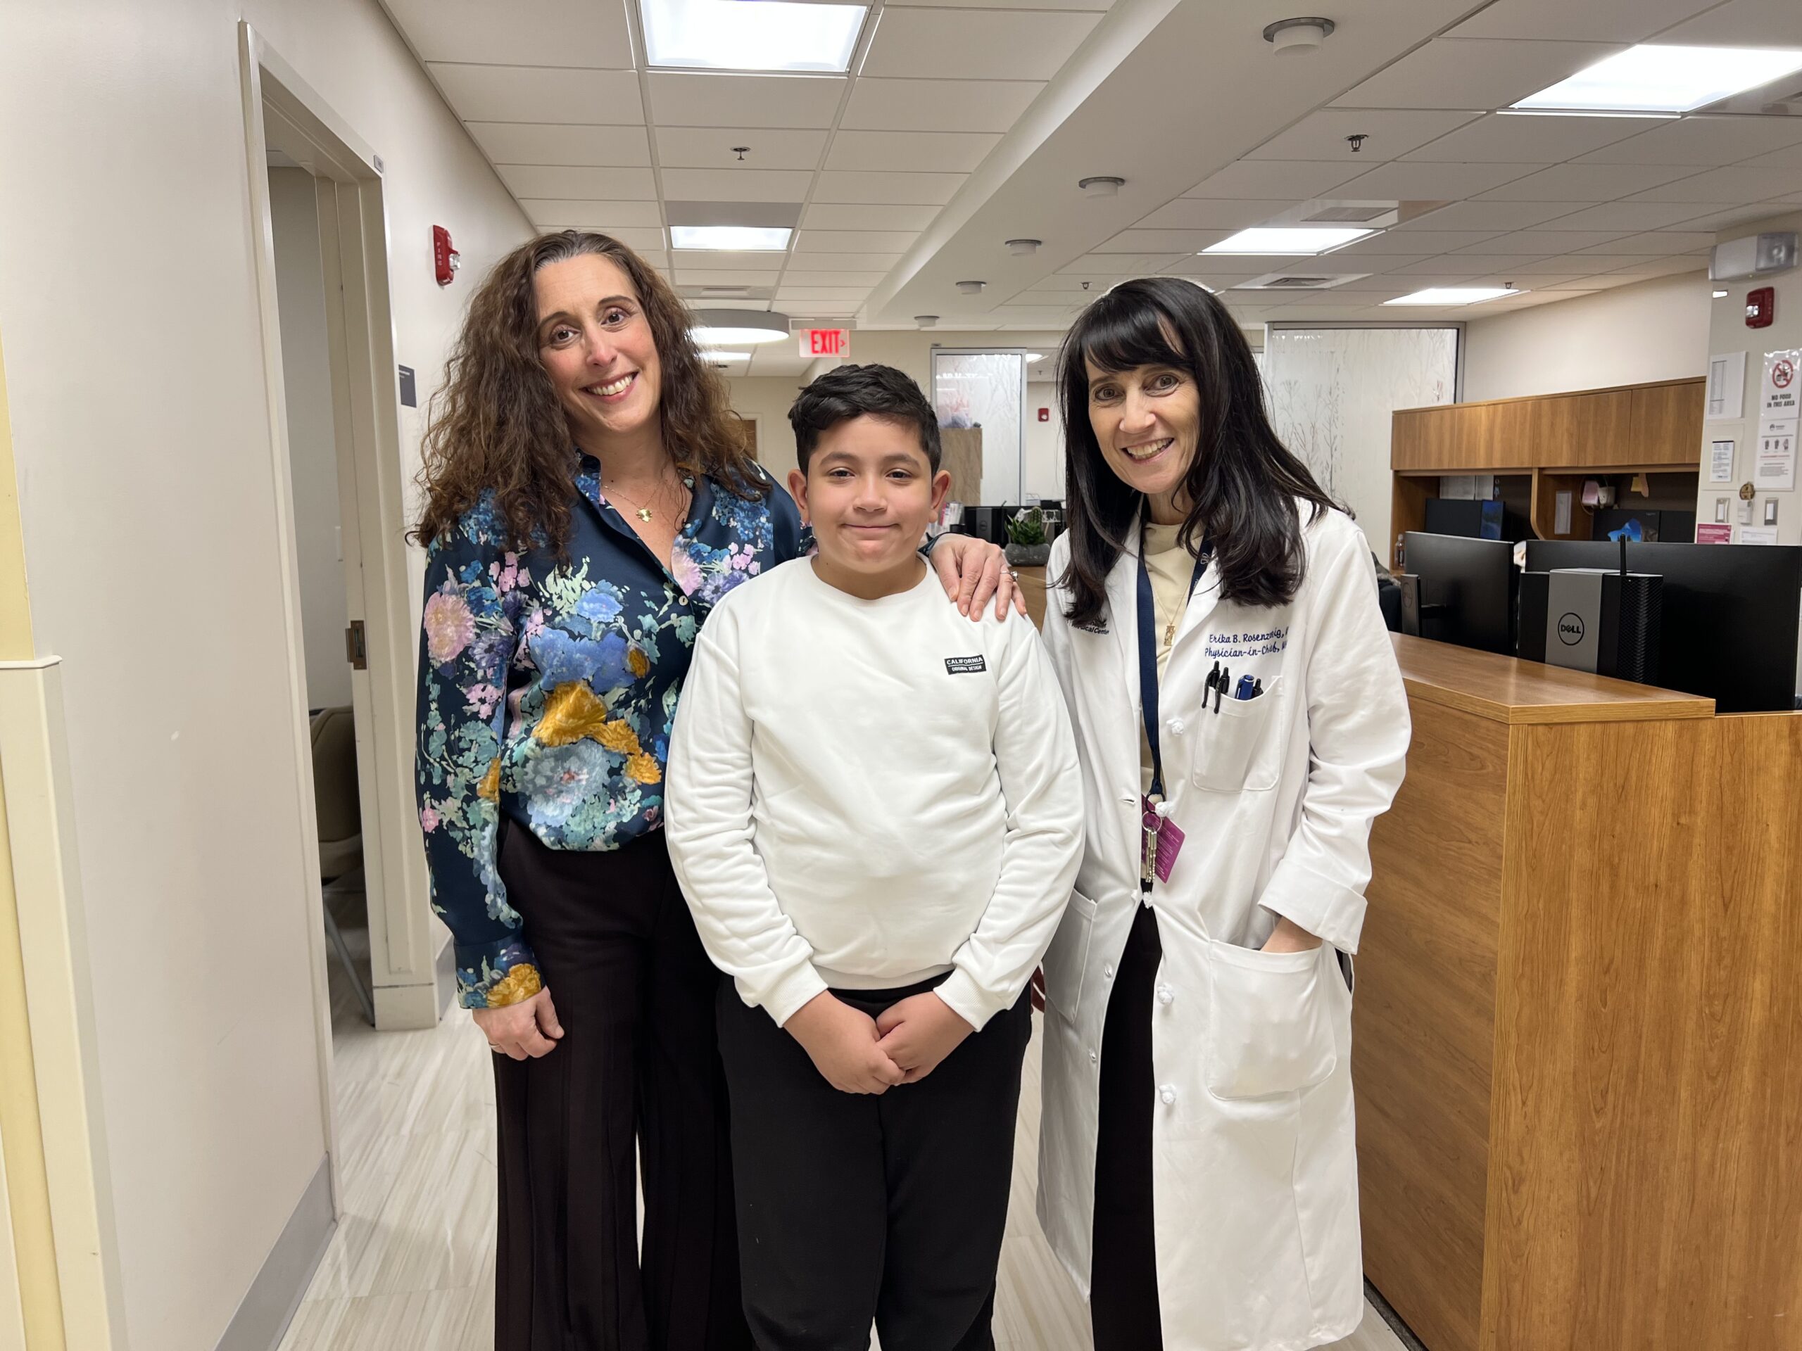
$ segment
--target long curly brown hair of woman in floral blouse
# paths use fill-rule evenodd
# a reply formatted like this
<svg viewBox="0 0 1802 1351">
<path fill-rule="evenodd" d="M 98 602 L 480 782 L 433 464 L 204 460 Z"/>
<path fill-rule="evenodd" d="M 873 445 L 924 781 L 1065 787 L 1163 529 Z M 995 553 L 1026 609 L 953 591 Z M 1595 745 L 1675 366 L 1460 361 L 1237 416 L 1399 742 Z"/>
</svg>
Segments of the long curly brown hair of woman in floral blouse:
<svg viewBox="0 0 1802 1351">
<path fill-rule="evenodd" d="M 663 366 L 663 449 L 685 474 L 705 474 L 742 497 L 764 497 L 769 477 L 746 449 L 742 422 L 728 407 L 726 382 L 701 360 L 688 330 L 694 317 L 676 290 L 618 240 L 587 231 L 541 234 L 521 245 L 481 283 L 463 331 L 432 396 L 420 488 L 425 506 L 411 539 L 443 539 L 494 494 L 508 548 L 551 549 L 569 542 L 577 458 L 557 391 L 539 360 L 533 277 L 541 267 L 596 254 L 631 279 L 651 321 Z"/>
</svg>

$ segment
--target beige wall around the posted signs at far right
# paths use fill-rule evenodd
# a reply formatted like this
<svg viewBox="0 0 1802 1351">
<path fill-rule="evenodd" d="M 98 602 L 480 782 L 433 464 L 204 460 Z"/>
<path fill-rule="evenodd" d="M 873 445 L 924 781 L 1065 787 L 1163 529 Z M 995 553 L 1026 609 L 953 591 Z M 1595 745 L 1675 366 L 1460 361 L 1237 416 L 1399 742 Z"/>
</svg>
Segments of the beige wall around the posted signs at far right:
<svg viewBox="0 0 1802 1351">
<path fill-rule="evenodd" d="M 1764 234 L 1768 231 L 1802 231 L 1802 211 L 1791 216 L 1779 216 L 1752 225 L 1735 225 L 1717 236 L 1717 243 L 1728 243 L 1746 234 Z M 1770 328 L 1746 328 L 1746 292 L 1755 286 L 1773 286 L 1777 290 L 1777 315 Z M 1730 422 L 1703 423 L 1701 481 L 1696 488 L 1696 521 L 1714 522 L 1716 499 L 1726 497 L 1726 519 L 1734 526 L 1734 540 L 1739 542 L 1739 485 L 1752 483 L 1757 470 L 1759 405 L 1764 393 L 1764 353 L 1780 348 L 1802 348 L 1802 270 L 1782 272 L 1775 277 L 1723 281 L 1726 292 L 1719 301 L 1712 301 L 1708 333 L 1708 353 L 1726 355 L 1746 353 L 1746 403 L 1744 418 Z M 1734 477 L 1730 483 L 1708 483 L 1710 441 L 1734 441 Z M 1764 526 L 1764 503 L 1777 503 L 1777 542 L 1802 544 L 1802 494 L 1797 490 L 1759 492 L 1752 503 L 1752 524 Z M 1797 672 L 1802 681 L 1802 668 Z"/>
</svg>

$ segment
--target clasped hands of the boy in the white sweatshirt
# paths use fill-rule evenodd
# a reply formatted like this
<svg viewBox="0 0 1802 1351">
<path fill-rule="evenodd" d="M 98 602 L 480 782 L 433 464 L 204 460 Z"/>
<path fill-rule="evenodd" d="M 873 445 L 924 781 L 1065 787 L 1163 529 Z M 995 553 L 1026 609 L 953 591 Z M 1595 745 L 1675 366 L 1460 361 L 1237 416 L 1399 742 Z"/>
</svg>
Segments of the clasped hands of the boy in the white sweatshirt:
<svg viewBox="0 0 1802 1351">
<path fill-rule="evenodd" d="M 912 994 L 870 1018 L 831 991 L 815 994 L 784 1023 L 820 1075 L 842 1093 L 887 1093 L 939 1068 L 975 1029 L 933 991 Z"/>
</svg>

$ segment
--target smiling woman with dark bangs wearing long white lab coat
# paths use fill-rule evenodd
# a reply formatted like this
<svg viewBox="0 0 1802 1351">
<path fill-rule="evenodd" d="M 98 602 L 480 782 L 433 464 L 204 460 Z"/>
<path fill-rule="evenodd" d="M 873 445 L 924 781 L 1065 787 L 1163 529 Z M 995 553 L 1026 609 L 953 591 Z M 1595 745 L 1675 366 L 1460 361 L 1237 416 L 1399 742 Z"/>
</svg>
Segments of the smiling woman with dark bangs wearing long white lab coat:
<svg viewBox="0 0 1802 1351">
<path fill-rule="evenodd" d="M 1370 548 L 1202 288 L 1115 286 L 1060 385 L 1045 641 L 1088 843 L 1043 966 L 1040 1221 L 1097 1351 L 1321 1346 L 1364 1308 L 1350 953 L 1409 737 Z"/>
</svg>

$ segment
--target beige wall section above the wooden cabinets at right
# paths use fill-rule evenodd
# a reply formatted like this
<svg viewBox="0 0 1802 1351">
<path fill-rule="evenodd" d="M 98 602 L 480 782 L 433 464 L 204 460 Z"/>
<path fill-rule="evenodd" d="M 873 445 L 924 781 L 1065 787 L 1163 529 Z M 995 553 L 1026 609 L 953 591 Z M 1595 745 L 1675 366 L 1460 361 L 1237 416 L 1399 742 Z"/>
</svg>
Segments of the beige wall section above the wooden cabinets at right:
<svg viewBox="0 0 1802 1351">
<path fill-rule="evenodd" d="M 1705 259 L 1696 259 L 1706 268 Z M 1465 402 L 1561 394 L 1706 371 L 1708 274 L 1685 272 L 1472 319 Z"/>
</svg>

